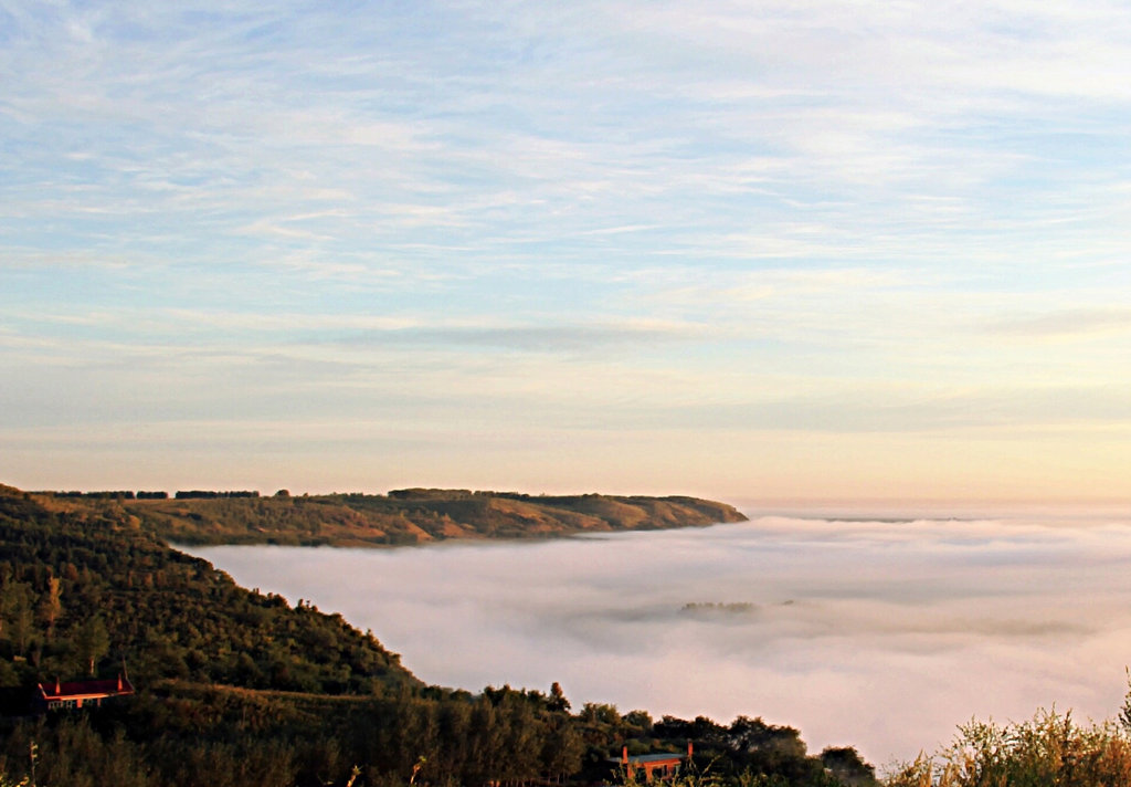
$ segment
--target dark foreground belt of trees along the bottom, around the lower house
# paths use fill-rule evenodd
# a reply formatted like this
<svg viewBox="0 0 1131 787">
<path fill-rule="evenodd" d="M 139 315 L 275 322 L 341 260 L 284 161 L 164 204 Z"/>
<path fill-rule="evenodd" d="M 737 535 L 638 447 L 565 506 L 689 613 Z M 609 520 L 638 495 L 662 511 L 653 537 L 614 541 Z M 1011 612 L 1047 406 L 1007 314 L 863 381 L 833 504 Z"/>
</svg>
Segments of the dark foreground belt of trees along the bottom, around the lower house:
<svg viewBox="0 0 1131 787">
<path fill-rule="evenodd" d="M 732 727 L 761 737 L 728 736 Z M 682 753 L 689 730 L 703 737 L 692 738 L 688 772 L 709 772 L 718 787 L 875 785 L 853 750 L 809 756 L 796 730 L 760 720 L 654 724 L 608 705 L 570 713 L 553 692 L 506 686 L 331 698 L 162 684 L 114 705 L 17 722 L 0 760 L 21 776 L 35 743 L 41 784 L 92 787 L 598 784 L 623 776 L 622 746 Z"/>
</svg>

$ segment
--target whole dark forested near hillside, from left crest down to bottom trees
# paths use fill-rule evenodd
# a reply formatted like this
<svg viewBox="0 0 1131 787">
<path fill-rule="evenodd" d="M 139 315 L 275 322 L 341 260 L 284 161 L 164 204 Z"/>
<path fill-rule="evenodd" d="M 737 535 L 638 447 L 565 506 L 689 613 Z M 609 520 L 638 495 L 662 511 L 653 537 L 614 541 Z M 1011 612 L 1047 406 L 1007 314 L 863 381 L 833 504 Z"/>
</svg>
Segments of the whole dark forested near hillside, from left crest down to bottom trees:
<svg viewBox="0 0 1131 787">
<path fill-rule="evenodd" d="M 337 615 L 235 585 L 118 501 L 0 487 L 0 784 L 41 787 L 592 784 L 632 754 L 685 752 L 718 784 L 873 784 L 851 748 L 549 692 L 425 686 Z M 474 498 L 473 498 L 473 502 Z M 455 656 L 458 658 L 458 655 Z M 28 715 L 37 682 L 113 677 L 132 696 Z"/>
</svg>

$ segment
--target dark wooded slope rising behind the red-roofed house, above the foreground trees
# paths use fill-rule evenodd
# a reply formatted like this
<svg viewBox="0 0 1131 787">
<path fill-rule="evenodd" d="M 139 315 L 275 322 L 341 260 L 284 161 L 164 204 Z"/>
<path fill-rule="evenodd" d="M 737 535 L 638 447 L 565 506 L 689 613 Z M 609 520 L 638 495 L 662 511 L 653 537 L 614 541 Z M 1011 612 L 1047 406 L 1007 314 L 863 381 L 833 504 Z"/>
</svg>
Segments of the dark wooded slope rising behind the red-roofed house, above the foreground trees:
<svg viewBox="0 0 1131 787">
<path fill-rule="evenodd" d="M 264 688 L 416 684 L 340 615 L 240 588 L 113 507 L 52 512 L 0 487 L 0 685 L 121 669 Z"/>
</svg>

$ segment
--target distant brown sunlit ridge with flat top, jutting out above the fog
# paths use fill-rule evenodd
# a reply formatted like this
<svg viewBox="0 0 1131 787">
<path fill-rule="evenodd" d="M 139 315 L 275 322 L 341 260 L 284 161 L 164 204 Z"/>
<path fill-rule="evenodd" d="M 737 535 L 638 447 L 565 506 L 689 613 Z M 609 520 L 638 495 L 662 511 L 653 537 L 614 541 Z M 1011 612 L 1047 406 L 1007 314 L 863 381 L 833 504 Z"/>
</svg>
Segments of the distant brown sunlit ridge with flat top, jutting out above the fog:
<svg viewBox="0 0 1131 787">
<path fill-rule="evenodd" d="M 109 512 L 175 544 L 394 546 L 454 538 L 538 538 L 582 532 L 705 527 L 745 520 L 724 503 L 694 497 L 534 496 L 465 489 L 388 495 L 270 497 L 176 493 L 144 499 L 118 493 L 40 493 L 52 510 Z"/>
</svg>

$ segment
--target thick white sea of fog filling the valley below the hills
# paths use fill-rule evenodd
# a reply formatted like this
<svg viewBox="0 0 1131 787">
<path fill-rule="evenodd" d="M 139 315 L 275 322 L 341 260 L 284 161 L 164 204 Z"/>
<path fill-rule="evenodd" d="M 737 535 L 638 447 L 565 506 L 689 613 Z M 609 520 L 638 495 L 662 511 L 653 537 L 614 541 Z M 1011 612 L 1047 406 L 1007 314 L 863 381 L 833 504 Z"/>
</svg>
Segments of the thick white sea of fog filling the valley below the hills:
<svg viewBox="0 0 1131 787">
<path fill-rule="evenodd" d="M 418 677 L 575 708 L 737 715 L 883 765 L 972 718 L 1113 717 L 1131 516 L 741 524 L 386 550 L 213 547 L 238 582 L 372 628 Z"/>
</svg>

